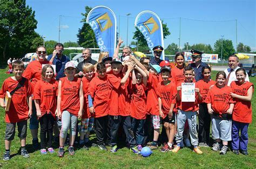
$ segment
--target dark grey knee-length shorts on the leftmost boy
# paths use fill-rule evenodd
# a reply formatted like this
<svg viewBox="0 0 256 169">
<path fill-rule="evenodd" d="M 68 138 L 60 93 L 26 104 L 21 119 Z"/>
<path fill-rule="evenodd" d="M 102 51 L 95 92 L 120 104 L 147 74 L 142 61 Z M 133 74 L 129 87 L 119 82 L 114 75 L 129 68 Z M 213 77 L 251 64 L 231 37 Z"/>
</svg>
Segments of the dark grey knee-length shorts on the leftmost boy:
<svg viewBox="0 0 256 169">
<path fill-rule="evenodd" d="M 28 126 L 27 120 L 17 122 L 18 137 L 21 139 L 26 138 L 26 128 Z M 15 136 L 16 123 L 6 123 L 5 140 L 11 141 Z"/>
</svg>

